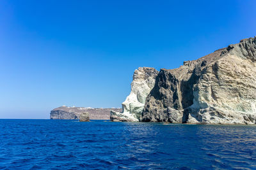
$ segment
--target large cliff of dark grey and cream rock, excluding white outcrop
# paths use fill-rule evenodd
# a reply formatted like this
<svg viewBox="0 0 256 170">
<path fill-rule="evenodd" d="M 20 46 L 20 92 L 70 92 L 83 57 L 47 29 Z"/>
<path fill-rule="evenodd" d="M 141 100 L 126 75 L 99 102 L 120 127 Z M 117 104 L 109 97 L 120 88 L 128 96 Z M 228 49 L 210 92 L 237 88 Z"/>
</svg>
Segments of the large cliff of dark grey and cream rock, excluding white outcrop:
<svg viewBox="0 0 256 170">
<path fill-rule="evenodd" d="M 161 69 L 143 122 L 255 124 L 256 37 Z"/>
</svg>

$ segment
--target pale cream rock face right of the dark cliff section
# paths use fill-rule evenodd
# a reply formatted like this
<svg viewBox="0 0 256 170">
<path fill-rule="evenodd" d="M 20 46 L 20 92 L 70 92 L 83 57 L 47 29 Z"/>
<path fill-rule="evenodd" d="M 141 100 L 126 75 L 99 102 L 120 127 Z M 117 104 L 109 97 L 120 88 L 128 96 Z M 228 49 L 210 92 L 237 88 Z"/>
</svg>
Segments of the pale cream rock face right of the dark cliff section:
<svg viewBox="0 0 256 170">
<path fill-rule="evenodd" d="M 205 69 L 195 85 L 188 123 L 255 124 L 256 38 L 230 46 L 230 52 Z"/>
</svg>

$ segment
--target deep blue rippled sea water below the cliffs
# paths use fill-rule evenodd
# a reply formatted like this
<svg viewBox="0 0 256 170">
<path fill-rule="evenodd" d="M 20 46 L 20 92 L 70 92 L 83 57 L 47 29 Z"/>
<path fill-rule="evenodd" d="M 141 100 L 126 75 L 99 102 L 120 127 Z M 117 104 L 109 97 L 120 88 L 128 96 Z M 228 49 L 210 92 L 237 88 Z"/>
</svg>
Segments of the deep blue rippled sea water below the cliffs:
<svg viewBox="0 0 256 170">
<path fill-rule="evenodd" d="M 0 120 L 0 169 L 256 169 L 256 126 Z"/>
</svg>

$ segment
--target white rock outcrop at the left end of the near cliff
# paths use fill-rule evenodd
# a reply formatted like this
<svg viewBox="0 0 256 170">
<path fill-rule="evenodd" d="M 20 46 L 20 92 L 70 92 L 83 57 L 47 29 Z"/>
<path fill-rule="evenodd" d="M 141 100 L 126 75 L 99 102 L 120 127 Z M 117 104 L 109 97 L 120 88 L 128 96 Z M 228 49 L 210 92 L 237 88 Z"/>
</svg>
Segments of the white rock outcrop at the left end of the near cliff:
<svg viewBox="0 0 256 170">
<path fill-rule="evenodd" d="M 112 121 L 139 121 L 146 97 L 154 87 L 158 71 L 150 67 L 139 67 L 134 71 L 131 93 L 122 103 L 122 112 L 111 111 Z"/>
</svg>

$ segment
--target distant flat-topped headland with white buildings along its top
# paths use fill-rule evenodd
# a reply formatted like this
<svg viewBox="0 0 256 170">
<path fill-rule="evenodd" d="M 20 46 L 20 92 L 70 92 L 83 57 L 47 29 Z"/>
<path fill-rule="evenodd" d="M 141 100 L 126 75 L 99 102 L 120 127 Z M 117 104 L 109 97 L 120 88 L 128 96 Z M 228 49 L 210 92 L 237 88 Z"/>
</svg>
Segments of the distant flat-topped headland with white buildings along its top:
<svg viewBox="0 0 256 170">
<path fill-rule="evenodd" d="M 109 120 L 110 110 L 122 111 L 121 108 L 82 108 L 61 106 L 51 111 L 51 119 L 79 119 L 83 112 L 88 112 L 91 120 Z"/>
</svg>

